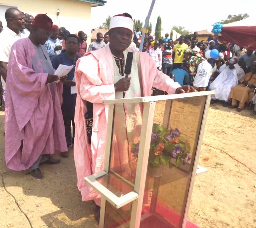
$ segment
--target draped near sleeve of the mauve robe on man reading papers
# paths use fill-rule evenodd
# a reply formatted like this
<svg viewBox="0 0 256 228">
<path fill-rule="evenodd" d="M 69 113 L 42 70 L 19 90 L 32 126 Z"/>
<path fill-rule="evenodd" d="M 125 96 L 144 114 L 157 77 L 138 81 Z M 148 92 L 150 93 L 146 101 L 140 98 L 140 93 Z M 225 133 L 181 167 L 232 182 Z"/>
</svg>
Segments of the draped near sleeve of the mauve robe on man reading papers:
<svg viewBox="0 0 256 228">
<path fill-rule="evenodd" d="M 26 40 L 24 39 L 24 43 Z M 36 55 L 28 51 L 29 46 L 15 42 L 12 46 L 7 69 L 7 90 L 10 90 L 14 106 L 14 112 L 19 129 L 30 120 L 38 97 L 46 87 L 48 73 L 36 73 L 32 69 L 32 56 Z M 40 67 L 40 63 L 38 63 Z M 16 75 L 20 75 L 16 77 Z"/>
</svg>

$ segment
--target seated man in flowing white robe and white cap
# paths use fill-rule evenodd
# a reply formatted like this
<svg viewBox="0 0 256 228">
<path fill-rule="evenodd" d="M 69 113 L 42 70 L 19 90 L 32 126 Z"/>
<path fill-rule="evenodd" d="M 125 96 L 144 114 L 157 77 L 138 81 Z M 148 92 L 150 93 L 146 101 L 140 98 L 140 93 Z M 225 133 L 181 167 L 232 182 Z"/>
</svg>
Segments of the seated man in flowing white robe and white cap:
<svg viewBox="0 0 256 228">
<path fill-rule="evenodd" d="M 228 106 L 228 96 L 231 88 L 238 85 L 238 76 L 244 75 L 243 69 L 236 63 L 236 59 L 231 58 L 219 68 L 220 74 L 211 83 L 210 90 L 215 90 L 216 94 L 212 95 L 213 100 L 221 100 Z"/>
</svg>

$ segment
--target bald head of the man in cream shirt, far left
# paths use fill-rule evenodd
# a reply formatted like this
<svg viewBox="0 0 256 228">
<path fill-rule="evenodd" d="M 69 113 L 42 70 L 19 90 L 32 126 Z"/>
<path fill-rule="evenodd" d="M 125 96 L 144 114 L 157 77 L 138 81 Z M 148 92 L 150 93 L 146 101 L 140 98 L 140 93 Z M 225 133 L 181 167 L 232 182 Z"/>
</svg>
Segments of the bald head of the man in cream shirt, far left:
<svg viewBox="0 0 256 228">
<path fill-rule="evenodd" d="M 24 13 L 19 11 L 17 8 L 9 8 L 5 11 L 5 19 L 9 29 L 18 34 L 18 30 L 26 28 L 24 21 Z"/>
</svg>

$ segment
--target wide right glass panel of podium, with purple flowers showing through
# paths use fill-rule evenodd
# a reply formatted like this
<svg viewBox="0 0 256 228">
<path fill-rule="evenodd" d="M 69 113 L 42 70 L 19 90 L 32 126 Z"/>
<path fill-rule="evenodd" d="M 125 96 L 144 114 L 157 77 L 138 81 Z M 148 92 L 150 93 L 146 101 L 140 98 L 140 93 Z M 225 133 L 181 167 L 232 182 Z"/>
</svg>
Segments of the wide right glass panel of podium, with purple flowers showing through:
<svg viewBox="0 0 256 228">
<path fill-rule="evenodd" d="M 182 226 L 205 102 L 206 97 L 156 102 L 141 228 Z"/>
</svg>

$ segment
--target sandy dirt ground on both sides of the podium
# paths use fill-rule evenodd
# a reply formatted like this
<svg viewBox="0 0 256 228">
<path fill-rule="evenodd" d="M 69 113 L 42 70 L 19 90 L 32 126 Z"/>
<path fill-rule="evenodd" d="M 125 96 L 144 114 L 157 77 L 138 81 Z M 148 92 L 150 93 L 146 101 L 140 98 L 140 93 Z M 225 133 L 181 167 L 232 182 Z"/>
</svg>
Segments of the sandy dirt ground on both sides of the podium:
<svg viewBox="0 0 256 228">
<path fill-rule="evenodd" d="M 238 113 L 219 103 L 209 109 L 199 159 L 208 171 L 195 178 L 188 215 L 201 228 L 256 228 L 256 116 L 251 114 L 252 110 Z M 0 173 L 32 227 L 98 227 L 94 203 L 81 202 L 76 187 L 73 149 L 60 164 L 42 165 L 42 180 L 25 171 L 8 170 L 3 122 L 4 112 L 0 112 Z M 31 227 L 2 181 L 0 199 L 0 228 Z"/>
</svg>

